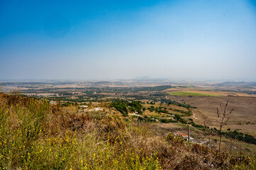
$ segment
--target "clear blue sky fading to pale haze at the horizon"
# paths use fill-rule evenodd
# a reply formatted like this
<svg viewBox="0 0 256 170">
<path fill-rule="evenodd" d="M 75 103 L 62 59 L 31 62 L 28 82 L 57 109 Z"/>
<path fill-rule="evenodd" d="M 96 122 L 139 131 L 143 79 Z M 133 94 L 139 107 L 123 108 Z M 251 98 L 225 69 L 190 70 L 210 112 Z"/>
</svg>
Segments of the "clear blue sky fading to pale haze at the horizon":
<svg viewBox="0 0 256 170">
<path fill-rule="evenodd" d="M 256 81 L 256 1 L 0 0 L 0 72 Z"/>
</svg>

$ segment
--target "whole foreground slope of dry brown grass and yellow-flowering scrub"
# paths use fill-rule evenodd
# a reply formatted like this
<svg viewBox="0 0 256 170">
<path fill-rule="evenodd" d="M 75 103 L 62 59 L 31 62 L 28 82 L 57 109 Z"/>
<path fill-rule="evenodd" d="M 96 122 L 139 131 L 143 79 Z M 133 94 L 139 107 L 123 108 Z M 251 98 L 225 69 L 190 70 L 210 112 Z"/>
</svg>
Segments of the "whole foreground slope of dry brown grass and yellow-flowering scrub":
<svg viewBox="0 0 256 170">
<path fill-rule="evenodd" d="M 120 113 L 83 112 L 18 95 L 0 94 L 0 125 L 0 169 L 256 168 L 254 155 L 157 136 Z"/>
</svg>

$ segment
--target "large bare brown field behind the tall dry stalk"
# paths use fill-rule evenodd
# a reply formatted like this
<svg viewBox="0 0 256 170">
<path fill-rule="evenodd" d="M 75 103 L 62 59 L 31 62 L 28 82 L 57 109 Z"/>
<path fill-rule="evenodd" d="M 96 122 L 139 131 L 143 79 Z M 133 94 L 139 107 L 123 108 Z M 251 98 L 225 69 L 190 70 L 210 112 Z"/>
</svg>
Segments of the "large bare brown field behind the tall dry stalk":
<svg viewBox="0 0 256 170">
<path fill-rule="evenodd" d="M 225 128 L 240 129 L 240 132 L 249 132 L 256 135 L 256 98 L 238 96 L 171 96 L 175 101 L 187 103 L 196 108 L 192 109 L 192 117 L 196 123 L 204 125 L 204 120 L 211 127 L 218 127 L 216 108 L 226 104 L 229 100 L 227 111 L 234 108 L 230 121 Z"/>
</svg>

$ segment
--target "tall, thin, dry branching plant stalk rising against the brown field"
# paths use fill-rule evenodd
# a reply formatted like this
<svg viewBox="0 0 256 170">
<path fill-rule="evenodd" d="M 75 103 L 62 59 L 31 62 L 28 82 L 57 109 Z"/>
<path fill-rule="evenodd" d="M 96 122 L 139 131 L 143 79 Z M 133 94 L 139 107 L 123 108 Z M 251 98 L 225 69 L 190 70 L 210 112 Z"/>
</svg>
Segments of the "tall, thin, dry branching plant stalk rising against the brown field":
<svg viewBox="0 0 256 170">
<path fill-rule="evenodd" d="M 219 133 L 220 143 L 218 145 L 218 152 L 221 152 L 222 127 L 223 127 L 223 125 L 226 125 L 226 123 L 230 119 L 230 117 L 228 117 L 228 115 L 230 115 L 234 111 L 234 108 L 232 108 L 228 114 L 226 113 L 226 108 L 228 106 L 228 102 L 229 102 L 229 100 L 227 101 L 224 108 L 222 107 L 221 103 L 220 103 L 220 106 L 218 106 L 218 108 L 217 108 L 218 123 L 220 125 L 220 133 Z"/>
</svg>

